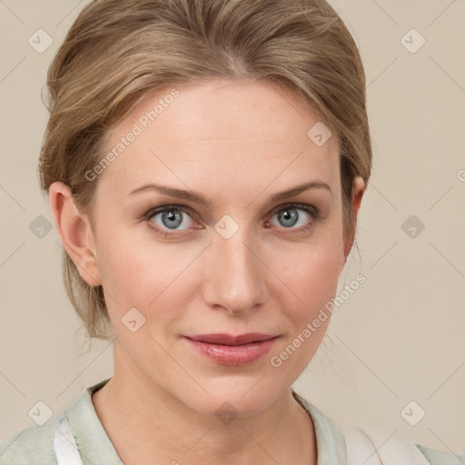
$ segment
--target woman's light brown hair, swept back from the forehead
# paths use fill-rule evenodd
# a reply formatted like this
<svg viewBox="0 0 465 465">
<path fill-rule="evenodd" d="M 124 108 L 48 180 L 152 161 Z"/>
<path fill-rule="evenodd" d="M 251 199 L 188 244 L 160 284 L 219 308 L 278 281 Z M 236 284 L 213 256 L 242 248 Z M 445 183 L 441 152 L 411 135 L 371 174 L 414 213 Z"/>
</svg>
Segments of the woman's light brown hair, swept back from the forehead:
<svg viewBox="0 0 465 465">
<path fill-rule="evenodd" d="M 41 187 L 62 181 L 92 222 L 105 135 L 147 94 L 212 78 L 282 85 L 320 115 L 341 147 L 343 232 L 355 234 L 352 184 L 371 174 L 361 56 L 325 0 L 94 0 L 68 31 L 47 74 L 50 118 Z M 102 286 L 67 252 L 64 283 L 90 337 L 112 338 Z"/>
</svg>

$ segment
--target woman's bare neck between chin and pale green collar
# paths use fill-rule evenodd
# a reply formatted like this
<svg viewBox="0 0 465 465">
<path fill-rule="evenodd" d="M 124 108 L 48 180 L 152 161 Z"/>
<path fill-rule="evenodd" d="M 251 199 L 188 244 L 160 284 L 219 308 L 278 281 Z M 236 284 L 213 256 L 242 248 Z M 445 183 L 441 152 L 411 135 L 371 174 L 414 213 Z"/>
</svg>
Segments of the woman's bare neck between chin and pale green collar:
<svg viewBox="0 0 465 465">
<path fill-rule="evenodd" d="M 113 378 L 92 401 L 125 465 L 316 465 L 312 420 L 290 390 L 257 415 L 222 422 L 193 411 L 134 365 L 118 360 L 115 356 Z"/>
</svg>

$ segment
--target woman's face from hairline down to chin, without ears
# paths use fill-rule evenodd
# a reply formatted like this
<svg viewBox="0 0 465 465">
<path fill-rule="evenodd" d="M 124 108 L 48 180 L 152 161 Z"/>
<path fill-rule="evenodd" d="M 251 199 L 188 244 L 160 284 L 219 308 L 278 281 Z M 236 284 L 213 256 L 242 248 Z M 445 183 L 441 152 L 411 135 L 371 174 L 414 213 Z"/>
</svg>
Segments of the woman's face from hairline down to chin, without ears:
<svg viewBox="0 0 465 465">
<path fill-rule="evenodd" d="M 302 338 L 344 265 L 339 145 L 272 84 L 171 90 L 109 134 L 117 155 L 98 180 L 94 247 L 118 336 L 115 374 L 194 411 L 214 415 L 228 401 L 247 416 L 298 378 L 330 321 Z M 231 356 L 186 338 L 251 332 L 278 337 L 226 348 Z"/>
</svg>

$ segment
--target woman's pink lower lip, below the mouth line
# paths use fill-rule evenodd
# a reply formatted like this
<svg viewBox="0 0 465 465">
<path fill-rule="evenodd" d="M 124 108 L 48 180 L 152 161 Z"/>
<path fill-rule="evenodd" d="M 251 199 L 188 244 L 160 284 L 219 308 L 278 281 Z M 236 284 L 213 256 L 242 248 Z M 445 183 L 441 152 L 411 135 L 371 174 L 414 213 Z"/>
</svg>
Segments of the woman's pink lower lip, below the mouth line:
<svg viewBox="0 0 465 465">
<path fill-rule="evenodd" d="M 216 361 L 221 365 L 242 367 L 261 359 L 263 355 L 271 351 L 274 342 L 278 338 L 242 345 L 209 344 L 208 342 L 186 339 L 197 351 L 203 353 L 210 360 Z"/>
</svg>

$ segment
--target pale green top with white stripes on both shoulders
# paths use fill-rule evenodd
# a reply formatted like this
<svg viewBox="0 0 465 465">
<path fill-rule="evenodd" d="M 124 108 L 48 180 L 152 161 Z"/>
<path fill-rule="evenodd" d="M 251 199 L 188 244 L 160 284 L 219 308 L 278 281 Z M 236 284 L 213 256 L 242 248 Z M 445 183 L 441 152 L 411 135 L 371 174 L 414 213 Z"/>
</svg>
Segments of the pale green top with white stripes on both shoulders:
<svg viewBox="0 0 465 465">
<path fill-rule="evenodd" d="M 110 379 L 85 388 L 61 415 L 16 433 L 0 444 L 0 465 L 124 465 L 100 422 L 92 394 Z M 465 457 L 408 441 L 389 441 L 376 450 L 361 430 L 344 433 L 300 394 L 292 395 L 310 415 L 316 434 L 317 465 L 465 465 Z M 376 442 L 376 441 L 375 441 Z M 378 443 L 378 442 L 376 442 Z"/>
</svg>

